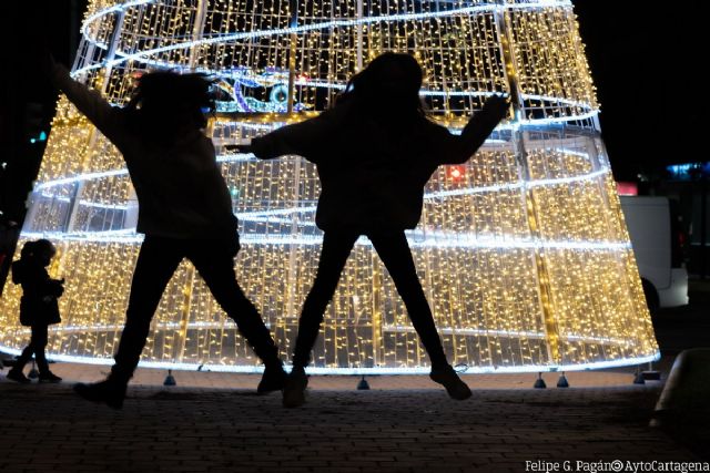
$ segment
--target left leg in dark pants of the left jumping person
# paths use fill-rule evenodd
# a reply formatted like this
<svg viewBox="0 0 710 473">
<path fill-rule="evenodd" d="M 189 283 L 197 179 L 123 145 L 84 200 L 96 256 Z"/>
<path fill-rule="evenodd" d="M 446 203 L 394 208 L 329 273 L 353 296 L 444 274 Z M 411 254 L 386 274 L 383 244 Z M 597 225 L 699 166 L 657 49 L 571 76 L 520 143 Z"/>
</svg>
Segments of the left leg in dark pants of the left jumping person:
<svg viewBox="0 0 710 473">
<path fill-rule="evenodd" d="M 131 296 L 111 378 L 128 383 L 138 366 L 151 319 L 168 281 L 183 258 L 180 240 L 146 236 L 138 256 Z"/>
</svg>

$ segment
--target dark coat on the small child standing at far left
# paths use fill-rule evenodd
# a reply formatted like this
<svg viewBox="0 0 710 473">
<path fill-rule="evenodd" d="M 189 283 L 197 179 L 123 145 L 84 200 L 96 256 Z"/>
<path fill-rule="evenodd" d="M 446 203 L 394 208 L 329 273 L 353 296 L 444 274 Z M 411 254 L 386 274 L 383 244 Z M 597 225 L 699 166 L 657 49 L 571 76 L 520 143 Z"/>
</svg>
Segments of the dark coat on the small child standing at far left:
<svg viewBox="0 0 710 473">
<path fill-rule="evenodd" d="M 62 282 L 49 277 L 44 266 L 34 257 L 12 263 L 12 282 L 22 285 L 20 323 L 52 325 L 61 321 L 57 299 L 64 292 Z"/>
</svg>

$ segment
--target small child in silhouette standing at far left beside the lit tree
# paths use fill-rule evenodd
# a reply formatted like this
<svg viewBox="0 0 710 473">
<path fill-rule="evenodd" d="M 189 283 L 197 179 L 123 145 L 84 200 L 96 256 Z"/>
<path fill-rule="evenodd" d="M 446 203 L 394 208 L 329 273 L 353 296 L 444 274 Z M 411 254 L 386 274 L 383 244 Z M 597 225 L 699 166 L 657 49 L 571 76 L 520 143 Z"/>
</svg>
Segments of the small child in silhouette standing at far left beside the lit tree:
<svg viewBox="0 0 710 473">
<path fill-rule="evenodd" d="M 49 370 L 44 356 L 48 327 L 61 322 L 57 299 L 64 294 L 63 279 L 52 279 L 47 266 L 57 254 L 50 240 L 27 241 L 20 251 L 20 259 L 12 263 L 12 282 L 22 285 L 20 299 L 20 323 L 31 327 L 32 338 L 20 358 L 8 372 L 8 379 L 27 384 L 30 380 L 22 370 L 34 354 L 39 369 L 39 382 L 60 382 L 62 379 Z"/>
</svg>

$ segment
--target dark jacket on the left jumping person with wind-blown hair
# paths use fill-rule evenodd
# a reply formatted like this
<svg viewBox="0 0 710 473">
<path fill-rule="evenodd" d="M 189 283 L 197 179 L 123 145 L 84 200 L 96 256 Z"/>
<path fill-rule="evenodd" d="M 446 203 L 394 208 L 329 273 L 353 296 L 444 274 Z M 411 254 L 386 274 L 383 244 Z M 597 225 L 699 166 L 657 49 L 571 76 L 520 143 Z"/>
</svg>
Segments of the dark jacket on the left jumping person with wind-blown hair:
<svg viewBox="0 0 710 473">
<path fill-rule="evenodd" d="M 174 143 L 146 142 L 125 109 L 57 65 L 54 84 L 123 154 L 139 202 L 138 232 L 169 238 L 236 239 L 232 197 L 212 140 L 197 130 Z"/>
</svg>

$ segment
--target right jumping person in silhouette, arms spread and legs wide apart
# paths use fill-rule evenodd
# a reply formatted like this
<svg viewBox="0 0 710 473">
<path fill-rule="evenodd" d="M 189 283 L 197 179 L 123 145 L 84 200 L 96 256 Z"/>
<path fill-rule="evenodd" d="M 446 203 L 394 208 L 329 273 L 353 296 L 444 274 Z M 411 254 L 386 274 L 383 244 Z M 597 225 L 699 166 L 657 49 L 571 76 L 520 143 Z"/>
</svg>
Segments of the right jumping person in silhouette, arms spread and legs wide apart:
<svg viewBox="0 0 710 473">
<path fill-rule="evenodd" d="M 437 166 L 466 162 L 505 116 L 489 99 L 460 136 L 425 117 L 422 69 L 407 54 L 385 53 L 354 75 L 336 105 L 251 145 L 260 158 L 297 154 L 315 163 L 322 192 L 316 225 L 324 230 L 317 275 L 301 312 L 284 405 L 305 402 L 311 350 L 355 241 L 366 235 L 389 271 L 432 361 L 432 380 L 454 399 L 470 397 L 446 359 L 404 230 L 419 222 L 424 186 Z"/>
</svg>

